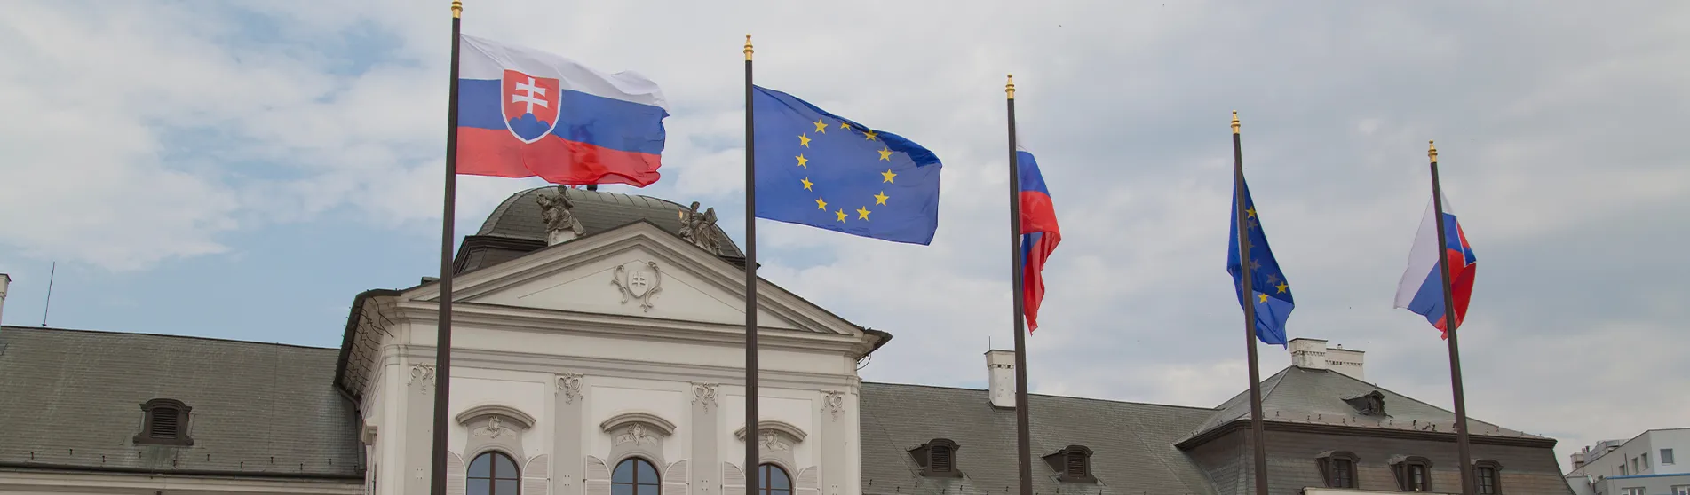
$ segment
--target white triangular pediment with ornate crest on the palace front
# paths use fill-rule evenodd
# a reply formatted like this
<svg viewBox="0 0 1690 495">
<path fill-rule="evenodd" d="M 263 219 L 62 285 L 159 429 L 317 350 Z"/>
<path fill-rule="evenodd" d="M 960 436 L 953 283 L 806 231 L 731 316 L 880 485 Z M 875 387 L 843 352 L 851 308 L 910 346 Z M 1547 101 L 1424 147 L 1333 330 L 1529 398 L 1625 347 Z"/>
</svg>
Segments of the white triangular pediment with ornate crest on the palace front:
<svg viewBox="0 0 1690 495">
<path fill-rule="evenodd" d="M 453 304 L 487 304 L 713 324 L 745 324 L 740 267 L 637 221 L 455 279 Z M 438 284 L 414 289 L 438 301 Z M 757 326 L 860 335 L 853 324 L 759 280 Z"/>
</svg>

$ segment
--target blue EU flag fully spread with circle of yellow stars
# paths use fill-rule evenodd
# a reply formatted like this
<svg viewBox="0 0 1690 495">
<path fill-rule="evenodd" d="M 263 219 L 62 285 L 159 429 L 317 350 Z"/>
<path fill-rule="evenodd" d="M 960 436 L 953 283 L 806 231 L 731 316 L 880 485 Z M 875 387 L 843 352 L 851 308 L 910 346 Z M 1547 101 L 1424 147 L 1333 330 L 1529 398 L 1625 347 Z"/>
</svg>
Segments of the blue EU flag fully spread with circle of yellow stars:
<svg viewBox="0 0 1690 495">
<path fill-rule="evenodd" d="M 896 133 L 755 86 L 757 218 L 926 245 L 940 159 Z"/>
</svg>

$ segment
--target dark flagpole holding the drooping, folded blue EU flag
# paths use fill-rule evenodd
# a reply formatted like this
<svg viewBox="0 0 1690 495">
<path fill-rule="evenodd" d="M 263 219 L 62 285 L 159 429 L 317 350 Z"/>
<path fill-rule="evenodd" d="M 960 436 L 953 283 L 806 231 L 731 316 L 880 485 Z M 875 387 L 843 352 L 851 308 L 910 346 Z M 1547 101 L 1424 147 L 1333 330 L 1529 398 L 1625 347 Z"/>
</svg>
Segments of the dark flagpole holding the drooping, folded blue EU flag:
<svg viewBox="0 0 1690 495">
<path fill-rule="evenodd" d="M 1239 237 L 1239 302 L 1244 306 L 1244 348 L 1251 367 L 1251 444 L 1256 449 L 1256 495 L 1268 495 L 1268 434 L 1262 427 L 1261 372 L 1256 368 L 1256 299 L 1251 282 L 1249 231 L 1244 228 L 1244 147 L 1239 142 L 1239 112 L 1232 112 L 1232 203 Z"/>
</svg>

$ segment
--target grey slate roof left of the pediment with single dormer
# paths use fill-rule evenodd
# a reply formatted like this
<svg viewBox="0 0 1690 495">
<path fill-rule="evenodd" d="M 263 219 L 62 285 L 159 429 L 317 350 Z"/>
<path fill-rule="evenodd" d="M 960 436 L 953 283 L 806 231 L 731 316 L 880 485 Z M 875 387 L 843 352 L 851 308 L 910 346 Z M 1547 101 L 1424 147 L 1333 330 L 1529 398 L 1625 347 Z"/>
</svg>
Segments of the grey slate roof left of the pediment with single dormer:
<svg viewBox="0 0 1690 495">
<path fill-rule="evenodd" d="M 338 350 L 0 328 L 0 466 L 362 478 Z M 135 446 L 140 404 L 193 407 L 194 444 Z"/>
</svg>

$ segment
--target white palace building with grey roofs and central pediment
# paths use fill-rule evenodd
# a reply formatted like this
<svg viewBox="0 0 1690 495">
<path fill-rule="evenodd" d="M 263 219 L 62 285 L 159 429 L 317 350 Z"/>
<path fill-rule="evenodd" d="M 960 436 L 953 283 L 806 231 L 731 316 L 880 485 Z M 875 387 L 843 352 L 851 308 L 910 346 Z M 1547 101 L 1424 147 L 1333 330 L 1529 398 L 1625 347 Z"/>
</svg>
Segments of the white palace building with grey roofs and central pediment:
<svg viewBox="0 0 1690 495">
<path fill-rule="evenodd" d="M 510 196 L 458 250 L 448 493 L 1016 488 L 1011 353 L 987 353 L 989 390 L 865 383 L 891 335 L 762 282 L 749 427 L 744 257 L 713 215 L 556 194 Z M 0 328 L 0 493 L 428 493 L 438 297 L 433 279 L 357 294 L 340 348 Z M 1262 389 L 1273 493 L 1460 492 L 1453 414 L 1362 382 L 1360 351 L 1293 358 Z M 1033 395 L 1036 492 L 1251 493 L 1242 397 Z M 1553 439 L 1470 431 L 1484 493 L 1572 493 Z"/>
</svg>

